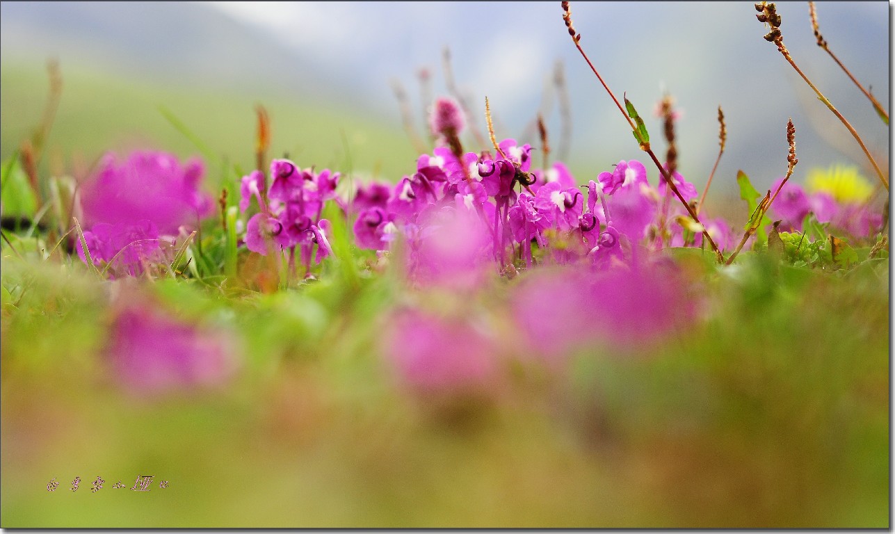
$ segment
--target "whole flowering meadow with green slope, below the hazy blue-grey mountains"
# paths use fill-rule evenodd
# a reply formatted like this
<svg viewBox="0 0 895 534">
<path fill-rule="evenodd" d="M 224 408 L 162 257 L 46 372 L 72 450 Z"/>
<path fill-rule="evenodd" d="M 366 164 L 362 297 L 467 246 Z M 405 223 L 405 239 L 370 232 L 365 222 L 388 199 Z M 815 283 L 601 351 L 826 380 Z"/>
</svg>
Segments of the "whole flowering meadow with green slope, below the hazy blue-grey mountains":
<svg viewBox="0 0 895 534">
<path fill-rule="evenodd" d="M 890 528 L 889 169 L 800 164 L 780 117 L 771 189 L 713 198 L 572 9 L 637 149 L 605 168 L 496 101 L 433 97 L 417 153 L 4 65 L 2 526 Z"/>
</svg>

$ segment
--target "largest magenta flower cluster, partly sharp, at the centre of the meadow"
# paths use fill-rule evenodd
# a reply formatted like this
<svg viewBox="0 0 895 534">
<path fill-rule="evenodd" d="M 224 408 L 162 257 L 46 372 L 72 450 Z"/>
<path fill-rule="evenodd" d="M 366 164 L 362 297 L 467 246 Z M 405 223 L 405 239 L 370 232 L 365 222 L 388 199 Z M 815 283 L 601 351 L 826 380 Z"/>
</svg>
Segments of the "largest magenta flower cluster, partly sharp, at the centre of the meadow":
<svg viewBox="0 0 895 534">
<path fill-rule="evenodd" d="M 696 198 L 692 183 L 677 172 L 672 178 L 687 201 Z M 431 248 L 427 242 L 442 237 L 449 238 L 451 253 L 439 259 L 462 259 L 466 267 L 489 261 L 506 267 L 514 258 L 532 267 L 534 245 L 555 263 L 586 259 L 599 264 L 621 259 L 622 242 L 651 244 L 660 215 L 667 221 L 685 216 L 671 196 L 662 182 L 652 187 L 646 168 L 635 160 L 619 161 L 613 171 L 579 189 L 560 162 L 546 172 L 531 172 L 531 147 L 516 140 L 500 142 L 497 157 L 483 151 L 458 158 L 450 148 L 438 147 L 422 155 L 416 173 L 395 186 L 373 182 L 358 188 L 352 202 L 354 237 L 371 250 L 392 250 L 403 238 L 417 278 L 446 267 L 444 261 L 434 265 L 425 253 Z M 723 219 L 706 226 L 722 249 L 734 242 Z M 670 234 L 669 245 L 685 244 L 680 225 L 672 226 Z M 701 233 L 690 237 L 695 246 L 701 244 Z M 450 267 L 455 274 L 463 271 L 457 267 Z"/>
</svg>

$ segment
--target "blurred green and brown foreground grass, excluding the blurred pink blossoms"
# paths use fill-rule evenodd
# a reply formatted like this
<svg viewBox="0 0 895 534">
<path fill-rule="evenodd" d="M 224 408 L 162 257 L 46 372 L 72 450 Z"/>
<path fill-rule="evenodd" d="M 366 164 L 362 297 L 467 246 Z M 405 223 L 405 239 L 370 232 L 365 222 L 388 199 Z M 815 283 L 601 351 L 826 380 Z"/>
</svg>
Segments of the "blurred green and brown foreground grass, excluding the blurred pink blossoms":
<svg viewBox="0 0 895 534">
<path fill-rule="evenodd" d="M 827 273 L 746 254 L 716 271 L 688 252 L 709 314 L 689 332 L 593 346 L 446 408 L 384 364 L 382 317 L 407 298 L 391 276 L 240 296 L 99 282 L 4 247 L 3 526 L 887 528 L 888 259 Z M 238 380 L 126 391 L 102 350 L 107 302 L 129 291 L 225 326 Z M 422 298 L 499 315 L 505 293 Z M 111 489 L 138 475 L 170 486 Z"/>
</svg>

